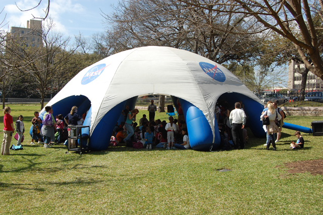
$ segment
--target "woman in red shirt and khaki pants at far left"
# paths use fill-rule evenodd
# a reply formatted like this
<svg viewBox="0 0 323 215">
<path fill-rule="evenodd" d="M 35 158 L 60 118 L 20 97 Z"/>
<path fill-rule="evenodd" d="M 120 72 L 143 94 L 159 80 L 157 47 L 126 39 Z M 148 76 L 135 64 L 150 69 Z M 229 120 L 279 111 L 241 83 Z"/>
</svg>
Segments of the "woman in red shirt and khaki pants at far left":
<svg viewBox="0 0 323 215">
<path fill-rule="evenodd" d="M 1 155 L 10 155 L 9 149 L 12 140 L 12 135 L 15 132 L 14 121 L 10 115 L 11 109 L 9 106 L 6 106 L 4 109 L 4 139 L 2 140 L 1 145 Z"/>
</svg>

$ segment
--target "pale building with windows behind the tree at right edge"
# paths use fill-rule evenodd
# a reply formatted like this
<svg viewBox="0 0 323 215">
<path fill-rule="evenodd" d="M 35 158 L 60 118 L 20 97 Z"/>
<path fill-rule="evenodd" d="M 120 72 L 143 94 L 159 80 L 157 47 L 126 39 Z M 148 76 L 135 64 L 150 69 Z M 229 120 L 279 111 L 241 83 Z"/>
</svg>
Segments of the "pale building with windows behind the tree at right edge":
<svg viewBox="0 0 323 215">
<path fill-rule="evenodd" d="M 305 68 L 304 64 L 299 65 L 299 69 L 302 70 Z M 297 69 L 297 62 L 291 61 L 288 66 L 288 88 L 294 90 L 300 90 L 302 75 L 299 74 Z M 323 90 L 323 81 L 316 75 L 311 72 L 307 74 L 306 88 L 305 91 L 322 91 Z"/>
</svg>

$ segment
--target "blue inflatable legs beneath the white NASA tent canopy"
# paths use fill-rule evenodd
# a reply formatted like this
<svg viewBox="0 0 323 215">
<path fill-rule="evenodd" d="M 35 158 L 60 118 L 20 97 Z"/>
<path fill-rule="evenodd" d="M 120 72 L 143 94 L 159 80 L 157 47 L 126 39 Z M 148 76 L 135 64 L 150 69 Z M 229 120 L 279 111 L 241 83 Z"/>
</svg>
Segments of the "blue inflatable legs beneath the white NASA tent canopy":
<svg viewBox="0 0 323 215">
<path fill-rule="evenodd" d="M 110 137 L 113 134 L 113 129 L 116 123 L 124 121 L 124 116 L 121 114 L 122 110 L 125 109 L 126 105 L 129 105 L 130 109 L 133 110 L 135 108 L 137 98 L 138 96 L 134 96 L 117 104 L 113 109 L 104 115 L 91 134 L 90 141 L 92 150 L 105 150 L 109 147 Z M 217 120 L 214 120 L 215 126 L 213 136 L 211 127 L 206 117 L 198 108 L 196 108 L 196 106 L 176 96 L 171 96 L 171 98 L 174 106 L 177 109 L 177 99 L 179 99 L 181 103 L 184 118 L 187 124 L 191 147 L 194 150 L 209 150 L 211 146 L 213 149 L 219 147 L 221 139 Z M 263 105 L 252 98 L 249 98 L 248 96 L 234 92 L 224 93 L 218 100 L 226 100 L 230 106 L 234 106 L 234 103 L 237 101 L 242 101 L 244 104 L 244 111 L 248 116 L 247 123 L 254 136 L 263 137 L 265 135 L 259 118 L 263 110 Z M 82 115 L 88 111 L 83 125 L 90 125 L 91 102 L 86 96 L 83 95 L 70 96 L 53 104 L 53 114 L 62 114 L 65 117 L 71 111 L 71 108 L 74 105 L 78 106 L 79 115 Z M 40 113 L 41 119 L 44 113 L 45 112 Z M 84 130 L 82 133 L 88 134 L 89 131 Z"/>
</svg>

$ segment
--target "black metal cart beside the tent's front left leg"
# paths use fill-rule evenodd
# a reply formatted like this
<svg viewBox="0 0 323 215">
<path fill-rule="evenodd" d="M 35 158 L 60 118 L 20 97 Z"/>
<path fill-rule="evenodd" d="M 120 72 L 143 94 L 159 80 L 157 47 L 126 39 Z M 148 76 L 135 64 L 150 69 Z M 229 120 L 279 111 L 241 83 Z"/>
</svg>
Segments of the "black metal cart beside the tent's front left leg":
<svg viewBox="0 0 323 215">
<path fill-rule="evenodd" d="M 86 137 L 82 137 L 82 130 L 84 128 L 88 128 L 90 129 L 90 126 L 83 126 L 83 125 L 77 125 L 77 126 L 69 126 L 70 129 L 70 135 L 69 135 L 69 139 L 74 139 L 78 142 L 78 140 L 80 140 L 80 143 L 77 144 L 76 148 L 69 148 L 69 146 L 67 145 L 67 152 L 69 153 L 69 151 L 75 151 L 79 154 L 82 154 L 82 152 L 86 151 L 89 152 L 90 151 L 90 135 L 86 136 Z M 86 139 L 87 143 L 83 144 L 82 141 L 84 141 Z"/>
</svg>

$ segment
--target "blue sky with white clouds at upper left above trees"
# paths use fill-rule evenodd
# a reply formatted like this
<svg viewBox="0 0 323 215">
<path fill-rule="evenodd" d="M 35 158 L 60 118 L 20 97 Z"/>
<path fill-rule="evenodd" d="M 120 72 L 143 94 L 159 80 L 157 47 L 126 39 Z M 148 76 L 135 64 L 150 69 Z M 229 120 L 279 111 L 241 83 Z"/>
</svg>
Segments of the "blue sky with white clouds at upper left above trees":
<svg viewBox="0 0 323 215">
<path fill-rule="evenodd" d="M 28 10 L 38 5 L 40 0 L 0 0 L 0 30 L 9 32 L 11 26 L 26 27 L 27 20 L 35 17 L 44 17 L 43 12 L 48 0 L 42 0 L 41 4 L 30 11 Z M 81 33 L 85 37 L 104 31 L 102 12 L 110 14 L 113 12 L 112 5 L 117 6 L 118 0 L 50 0 L 49 16 L 53 18 L 56 30 L 65 36 L 78 35 Z M 16 4 L 17 6 L 16 6 Z M 102 12 L 101 12 L 102 11 Z M 4 25 L 5 24 L 5 25 Z"/>
</svg>

